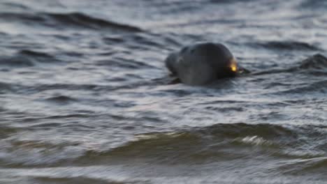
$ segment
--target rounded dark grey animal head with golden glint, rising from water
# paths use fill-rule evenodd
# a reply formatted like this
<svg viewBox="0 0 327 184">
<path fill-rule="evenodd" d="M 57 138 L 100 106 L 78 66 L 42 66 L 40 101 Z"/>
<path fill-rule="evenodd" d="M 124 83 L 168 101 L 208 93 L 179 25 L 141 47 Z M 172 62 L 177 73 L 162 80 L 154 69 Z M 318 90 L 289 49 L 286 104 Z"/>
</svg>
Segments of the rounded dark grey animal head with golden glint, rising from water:
<svg viewBox="0 0 327 184">
<path fill-rule="evenodd" d="M 238 66 L 233 54 L 220 43 L 200 43 L 170 54 L 166 67 L 184 84 L 203 85 L 234 77 Z"/>
</svg>

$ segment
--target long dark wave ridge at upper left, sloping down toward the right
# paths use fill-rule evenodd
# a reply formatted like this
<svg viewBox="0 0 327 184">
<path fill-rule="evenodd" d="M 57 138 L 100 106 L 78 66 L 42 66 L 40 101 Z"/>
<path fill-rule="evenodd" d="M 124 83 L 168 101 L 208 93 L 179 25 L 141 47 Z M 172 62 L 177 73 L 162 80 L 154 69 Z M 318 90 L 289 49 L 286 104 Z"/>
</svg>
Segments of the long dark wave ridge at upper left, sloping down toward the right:
<svg viewBox="0 0 327 184">
<path fill-rule="evenodd" d="M 0 20 L 24 22 L 26 24 L 41 24 L 52 28 L 86 28 L 86 29 L 115 29 L 119 31 L 142 31 L 136 26 L 119 24 L 103 20 L 84 13 L 0 13 Z"/>
</svg>

